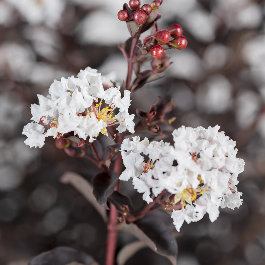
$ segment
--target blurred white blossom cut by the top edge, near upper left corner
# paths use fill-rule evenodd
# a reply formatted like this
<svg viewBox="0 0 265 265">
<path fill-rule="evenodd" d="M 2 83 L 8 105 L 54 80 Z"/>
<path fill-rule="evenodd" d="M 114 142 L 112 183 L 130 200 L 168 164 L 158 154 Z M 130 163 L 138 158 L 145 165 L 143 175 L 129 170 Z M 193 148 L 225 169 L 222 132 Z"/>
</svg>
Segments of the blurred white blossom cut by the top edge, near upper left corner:
<svg viewBox="0 0 265 265">
<path fill-rule="evenodd" d="M 54 27 L 64 11 L 65 0 L 7 0 L 29 24 L 46 24 Z"/>
</svg>

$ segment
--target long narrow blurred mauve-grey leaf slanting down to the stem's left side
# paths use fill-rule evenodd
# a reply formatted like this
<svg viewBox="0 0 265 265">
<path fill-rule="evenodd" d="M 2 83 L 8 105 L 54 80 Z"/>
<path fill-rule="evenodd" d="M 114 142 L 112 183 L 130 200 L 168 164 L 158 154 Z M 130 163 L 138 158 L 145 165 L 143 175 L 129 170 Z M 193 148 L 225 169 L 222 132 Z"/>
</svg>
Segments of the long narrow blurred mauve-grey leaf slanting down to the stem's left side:
<svg viewBox="0 0 265 265">
<path fill-rule="evenodd" d="M 61 176 L 60 182 L 73 185 L 73 187 L 75 187 L 94 206 L 104 222 L 108 222 L 106 209 L 98 204 L 95 196 L 93 195 L 92 185 L 86 179 L 77 173 L 68 171 Z"/>
</svg>

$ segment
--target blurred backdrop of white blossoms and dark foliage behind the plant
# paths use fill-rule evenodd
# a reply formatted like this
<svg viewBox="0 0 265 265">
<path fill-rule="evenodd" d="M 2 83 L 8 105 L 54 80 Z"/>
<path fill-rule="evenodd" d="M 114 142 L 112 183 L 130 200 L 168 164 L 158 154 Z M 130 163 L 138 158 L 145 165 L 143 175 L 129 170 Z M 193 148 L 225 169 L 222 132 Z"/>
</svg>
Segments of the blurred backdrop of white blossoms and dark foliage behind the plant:
<svg viewBox="0 0 265 265">
<path fill-rule="evenodd" d="M 60 245 L 92 254 L 101 264 L 104 260 L 104 222 L 78 191 L 59 182 L 65 171 L 91 180 L 97 169 L 56 149 L 54 139 L 30 149 L 21 132 L 30 122 L 30 104 L 38 104 L 37 94 L 48 94 L 54 79 L 87 66 L 103 75 L 114 71 L 117 83 L 126 79 L 117 48 L 130 37 L 126 23 L 117 19 L 123 3 L 0 1 L 1 265 L 27 264 Z M 220 209 L 214 223 L 205 216 L 184 224 L 175 233 L 178 265 L 265 264 L 265 1 L 164 0 L 159 10 L 158 27 L 180 24 L 188 46 L 167 50 L 174 63 L 164 78 L 133 94 L 131 113 L 147 111 L 158 95 L 166 102 L 173 98 L 174 127 L 218 124 L 236 140 L 237 156 L 246 163 L 237 186 L 243 205 Z M 139 210 L 141 195 L 130 182 L 122 185 Z M 170 215 L 156 215 L 175 231 Z M 118 249 L 132 240 L 121 233 Z M 170 264 L 149 249 L 126 265 L 136 262 Z"/>
</svg>

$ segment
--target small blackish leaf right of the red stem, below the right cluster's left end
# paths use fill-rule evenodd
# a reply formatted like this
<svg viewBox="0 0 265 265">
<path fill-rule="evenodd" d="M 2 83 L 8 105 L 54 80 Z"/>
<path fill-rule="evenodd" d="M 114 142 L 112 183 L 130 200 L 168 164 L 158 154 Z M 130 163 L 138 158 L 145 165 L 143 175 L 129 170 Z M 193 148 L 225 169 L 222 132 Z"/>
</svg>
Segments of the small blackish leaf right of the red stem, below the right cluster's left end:
<svg viewBox="0 0 265 265">
<path fill-rule="evenodd" d="M 108 197 L 108 201 L 111 202 L 120 213 L 124 213 L 126 209 L 129 212 L 133 211 L 133 204 L 130 197 L 118 191 L 114 191 L 112 195 Z M 125 209 L 123 209 L 124 207 Z"/>
</svg>

